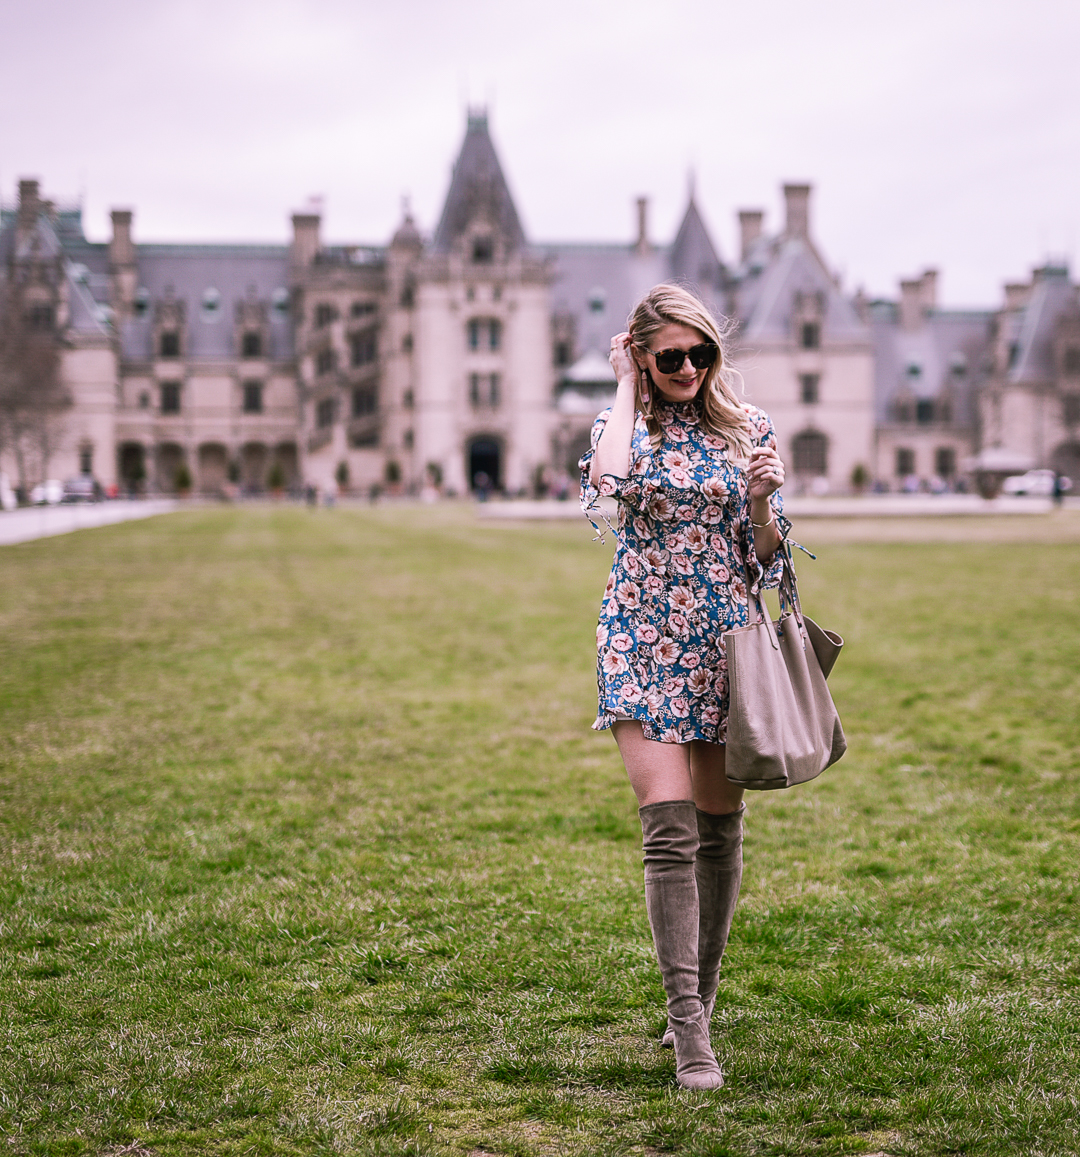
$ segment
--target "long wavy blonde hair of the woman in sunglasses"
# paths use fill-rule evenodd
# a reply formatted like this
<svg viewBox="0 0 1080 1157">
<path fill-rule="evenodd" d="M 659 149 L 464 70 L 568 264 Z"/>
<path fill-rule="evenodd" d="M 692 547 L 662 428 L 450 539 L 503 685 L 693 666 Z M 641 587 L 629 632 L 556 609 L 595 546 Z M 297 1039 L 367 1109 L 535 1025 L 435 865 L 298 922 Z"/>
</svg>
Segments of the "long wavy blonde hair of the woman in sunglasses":
<svg viewBox="0 0 1080 1157">
<path fill-rule="evenodd" d="M 739 399 L 743 386 L 742 375 L 728 362 L 728 338 L 734 329 L 733 324 L 728 320 L 718 322 L 689 289 L 676 285 L 659 285 L 634 305 L 626 320 L 626 329 L 634 345 L 651 347 L 653 336 L 666 325 L 686 325 L 697 330 L 719 349 L 717 360 L 708 367 L 701 389 L 693 400 L 701 412 L 705 429 L 722 437 L 733 454 L 745 457 L 750 452 L 750 423 L 745 407 Z M 663 432 L 653 410 L 656 388 L 652 382 L 648 401 L 642 397 L 641 384 L 647 373 L 641 369 L 635 377 L 634 400 L 645 415 L 655 449 L 663 441 Z"/>
</svg>

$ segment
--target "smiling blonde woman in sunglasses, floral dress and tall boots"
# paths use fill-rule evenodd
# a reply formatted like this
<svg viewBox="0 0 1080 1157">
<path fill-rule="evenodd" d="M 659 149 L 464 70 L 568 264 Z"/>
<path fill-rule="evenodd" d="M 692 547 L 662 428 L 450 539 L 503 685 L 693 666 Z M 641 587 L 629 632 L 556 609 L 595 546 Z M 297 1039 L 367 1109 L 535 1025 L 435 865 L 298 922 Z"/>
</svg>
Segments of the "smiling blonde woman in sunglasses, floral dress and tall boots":
<svg viewBox="0 0 1080 1157">
<path fill-rule="evenodd" d="M 784 464 L 739 400 L 725 334 L 679 286 L 652 289 L 611 340 L 615 404 L 581 459 L 582 506 L 618 501 L 596 633 L 600 709 L 638 797 L 645 902 L 678 1083 L 723 1084 L 708 1025 L 742 878 L 742 789 L 723 774 L 722 634 L 748 621 L 744 576 L 779 583 Z"/>
</svg>

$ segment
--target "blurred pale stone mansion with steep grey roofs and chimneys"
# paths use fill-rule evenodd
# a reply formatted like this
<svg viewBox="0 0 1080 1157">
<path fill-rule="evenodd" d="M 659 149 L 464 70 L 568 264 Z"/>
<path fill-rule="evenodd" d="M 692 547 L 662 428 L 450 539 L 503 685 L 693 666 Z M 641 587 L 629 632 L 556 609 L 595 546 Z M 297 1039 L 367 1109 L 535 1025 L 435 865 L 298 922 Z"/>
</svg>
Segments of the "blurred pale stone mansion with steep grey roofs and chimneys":
<svg viewBox="0 0 1080 1157">
<path fill-rule="evenodd" d="M 472 112 L 434 231 L 406 212 L 384 245 L 326 245 L 317 212 L 288 245 L 137 242 L 112 212 L 36 180 L 0 213 L 5 300 L 54 334 L 73 405 L 56 437 L 0 465 L 25 484 L 198 492 L 314 484 L 508 493 L 572 473 L 608 404 L 611 334 L 649 286 L 681 281 L 737 320 L 749 400 L 772 415 L 789 487 L 954 485 L 978 454 L 1080 477 L 1080 304 L 1063 265 L 982 310 L 939 308 L 935 273 L 895 301 L 848 294 L 817 248 L 810 187 L 785 220 L 739 214 L 722 257 L 689 198 L 656 243 L 647 202 L 625 244 L 524 234 Z M 0 415 L 2 421 L 2 415 Z"/>
</svg>

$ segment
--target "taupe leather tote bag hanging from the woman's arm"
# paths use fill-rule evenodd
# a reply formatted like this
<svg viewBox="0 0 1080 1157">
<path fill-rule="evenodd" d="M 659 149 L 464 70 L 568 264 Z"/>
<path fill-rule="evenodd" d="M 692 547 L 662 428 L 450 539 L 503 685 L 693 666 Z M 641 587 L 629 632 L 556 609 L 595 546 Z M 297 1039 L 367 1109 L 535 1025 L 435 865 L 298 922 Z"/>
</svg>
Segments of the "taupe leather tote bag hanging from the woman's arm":
<svg viewBox="0 0 1080 1157">
<path fill-rule="evenodd" d="M 727 631 L 727 778 L 758 791 L 806 783 L 847 750 L 825 678 L 844 640 L 802 613 L 791 547 L 780 547 L 780 619 L 750 591 L 750 625 Z"/>
</svg>

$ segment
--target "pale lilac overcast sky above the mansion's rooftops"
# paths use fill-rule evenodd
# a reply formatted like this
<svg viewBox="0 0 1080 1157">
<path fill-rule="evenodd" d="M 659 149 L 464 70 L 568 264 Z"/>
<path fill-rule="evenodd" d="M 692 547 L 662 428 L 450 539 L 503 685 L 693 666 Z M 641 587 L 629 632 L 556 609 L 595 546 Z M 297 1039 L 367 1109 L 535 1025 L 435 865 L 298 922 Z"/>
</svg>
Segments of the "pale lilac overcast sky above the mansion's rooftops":
<svg viewBox="0 0 1080 1157">
<path fill-rule="evenodd" d="M 1080 241 L 1075 0 L 7 0 L 0 194 L 36 176 L 87 231 L 384 243 L 438 219 L 468 104 L 534 241 L 674 235 L 696 174 L 722 257 L 739 208 L 814 185 L 844 283 L 941 270 L 948 304 Z"/>
</svg>

